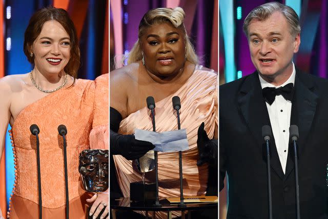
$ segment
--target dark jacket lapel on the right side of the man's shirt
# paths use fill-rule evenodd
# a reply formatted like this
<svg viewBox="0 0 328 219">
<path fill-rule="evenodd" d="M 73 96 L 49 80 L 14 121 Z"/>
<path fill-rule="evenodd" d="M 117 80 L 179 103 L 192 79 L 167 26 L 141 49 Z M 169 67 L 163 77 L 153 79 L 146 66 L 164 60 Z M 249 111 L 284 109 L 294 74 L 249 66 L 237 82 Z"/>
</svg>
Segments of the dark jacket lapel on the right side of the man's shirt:
<svg viewBox="0 0 328 219">
<path fill-rule="evenodd" d="M 318 95 L 312 92 L 314 83 L 309 78 L 303 78 L 303 75 L 295 76 L 295 93 L 292 102 L 291 125 L 298 126 L 299 138 L 297 141 L 299 159 L 302 159 L 302 151 L 309 137 L 310 128 L 312 126 L 315 115 Z M 292 144 L 289 147 L 293 147 Z M 293 148 L 289 148 L 291 151 Z M 285 179 L 294 169 L 294 155 L 288 154 Z"/>
</svg>

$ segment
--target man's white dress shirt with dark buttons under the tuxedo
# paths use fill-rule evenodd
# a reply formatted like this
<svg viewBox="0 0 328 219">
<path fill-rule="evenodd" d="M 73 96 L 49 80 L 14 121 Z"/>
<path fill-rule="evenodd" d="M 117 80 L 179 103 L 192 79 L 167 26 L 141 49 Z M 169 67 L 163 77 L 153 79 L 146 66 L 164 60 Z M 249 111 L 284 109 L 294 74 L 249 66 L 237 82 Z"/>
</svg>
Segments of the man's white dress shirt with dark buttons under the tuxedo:
<svg viewBox="0 0 328 219">
<path fill-rule="evenodd" d="M 259 75 L 260 83 L 262 89 L 265 87 L 283 87 L 289 83 L 295 83 L 295 66 L 293 63 L 293 73 L 288 78 L 286 82 L 282 85 L 274 86 L 269 82 L 264 81 L 264 79 Z M 289 143 L 289 127 L 291 123 L 291 110 L 292 102 L 283 98 L 282 95 L 277 95 L 275 101 L 270 106 L 267 102 L 270 123 L 272 128 L 272 133 L 275 138 L 276 148 L 279 155 L 279 160 L 283 173 L 286 170 L 286 162 L 288 156 L 288 143 Z"/>
</svg>

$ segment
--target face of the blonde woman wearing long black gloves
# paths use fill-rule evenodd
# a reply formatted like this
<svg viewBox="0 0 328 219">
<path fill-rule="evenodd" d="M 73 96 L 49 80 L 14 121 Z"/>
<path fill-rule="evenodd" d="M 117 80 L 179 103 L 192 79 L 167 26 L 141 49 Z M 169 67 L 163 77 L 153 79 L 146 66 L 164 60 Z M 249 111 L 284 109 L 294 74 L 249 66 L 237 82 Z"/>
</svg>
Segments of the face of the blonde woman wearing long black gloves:
<svg viewBox="0 0 328 219">
<path fill-rule="evenodd" d="M 185 65 L 185 34 L 170 23 L 152 25 L 141 37 L 147 70 L 156 76 L 177 74 Z"/>
</svg>

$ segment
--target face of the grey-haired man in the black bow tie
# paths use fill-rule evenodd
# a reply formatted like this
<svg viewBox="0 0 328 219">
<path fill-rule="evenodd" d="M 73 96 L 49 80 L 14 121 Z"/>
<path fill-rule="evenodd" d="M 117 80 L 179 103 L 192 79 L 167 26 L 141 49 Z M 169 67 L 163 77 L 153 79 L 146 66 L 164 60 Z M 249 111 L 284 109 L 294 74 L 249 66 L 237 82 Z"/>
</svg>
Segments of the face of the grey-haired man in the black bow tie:
<svg viewBox="0 0 328 219">
<path fill-rule="evenodd" d="M 261 77 L 274 85 L 284 83 L 293 72 L 292 59 L 300 35 L 292 36 L 290 29 L 280 12 L 265 21 L 252 19 L 248 27 L 252 62 Z"/>
</svg>

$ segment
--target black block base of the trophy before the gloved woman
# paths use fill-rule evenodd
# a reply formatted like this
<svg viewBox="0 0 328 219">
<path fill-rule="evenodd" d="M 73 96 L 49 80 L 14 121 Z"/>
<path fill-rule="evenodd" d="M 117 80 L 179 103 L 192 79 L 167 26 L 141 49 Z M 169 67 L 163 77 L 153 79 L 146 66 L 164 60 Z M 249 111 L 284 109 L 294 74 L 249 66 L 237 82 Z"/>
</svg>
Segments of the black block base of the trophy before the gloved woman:
<svg viewBox="0 0 328 219">
<path fill-rule="evenodd" d="M 130 200 L 135 202 L 154 203 L 156 200 L 155 183 L 130 183 Z"/>
</svg>

